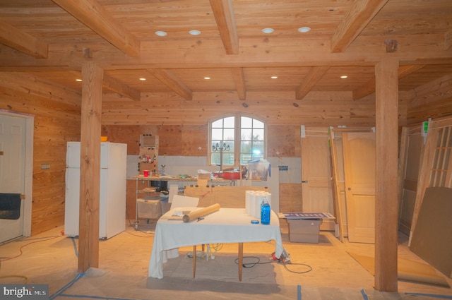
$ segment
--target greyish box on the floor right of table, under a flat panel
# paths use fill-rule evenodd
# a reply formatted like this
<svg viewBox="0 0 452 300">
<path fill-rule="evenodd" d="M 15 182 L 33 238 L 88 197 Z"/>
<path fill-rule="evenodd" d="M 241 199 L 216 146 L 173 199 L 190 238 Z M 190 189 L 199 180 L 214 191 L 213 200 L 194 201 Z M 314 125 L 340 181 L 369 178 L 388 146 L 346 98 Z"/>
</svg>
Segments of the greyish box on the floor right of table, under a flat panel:
<svg viewBox="0 0 452 300">
<path fill-rule="evenodd" d="M 289 240 L 297 243 L 319 243 L 322 219 L 287 219 Z"/>
</svg>

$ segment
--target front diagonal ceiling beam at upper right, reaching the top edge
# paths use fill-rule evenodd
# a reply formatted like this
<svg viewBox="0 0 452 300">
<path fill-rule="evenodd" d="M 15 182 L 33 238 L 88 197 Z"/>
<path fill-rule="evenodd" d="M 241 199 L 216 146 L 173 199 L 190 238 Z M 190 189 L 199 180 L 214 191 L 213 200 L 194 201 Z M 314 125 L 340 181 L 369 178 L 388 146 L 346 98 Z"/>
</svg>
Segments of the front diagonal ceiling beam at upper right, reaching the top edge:
<svg viewBox="0 0 452 300">
<path fill-rule="evenodd" d="M 388 0 L 355 0 L 331 38 L 331 52 L 344 52 Z"/>
</svg>

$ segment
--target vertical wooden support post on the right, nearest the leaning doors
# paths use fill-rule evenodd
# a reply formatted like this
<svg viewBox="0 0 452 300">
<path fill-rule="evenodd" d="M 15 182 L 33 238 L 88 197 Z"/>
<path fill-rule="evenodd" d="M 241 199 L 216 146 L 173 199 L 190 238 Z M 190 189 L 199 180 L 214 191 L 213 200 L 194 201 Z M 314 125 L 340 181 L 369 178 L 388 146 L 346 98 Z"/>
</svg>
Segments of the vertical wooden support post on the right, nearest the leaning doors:
<svg viewBox="0 0 452 300">
<path fill-rule="evenodd" d="M 375 66 L 375 288 L 397 292 L 398 59 Z"/>
</svg>

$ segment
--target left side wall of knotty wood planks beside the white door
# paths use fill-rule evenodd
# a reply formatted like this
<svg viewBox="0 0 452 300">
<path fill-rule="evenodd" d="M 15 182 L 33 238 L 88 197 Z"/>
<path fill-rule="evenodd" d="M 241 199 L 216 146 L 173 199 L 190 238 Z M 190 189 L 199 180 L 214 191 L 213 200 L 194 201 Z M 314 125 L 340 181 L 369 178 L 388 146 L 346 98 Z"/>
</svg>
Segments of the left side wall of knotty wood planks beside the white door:
<svg viewBox="0 0 452 300">
<path fill-rule="evenodd" d="M 0 109 L 35 116 L 31 232 L 38 234 L 64 224 L 66 143 L 80 140 L 81 94 L 23 73 L 0 72 L 0 81 Z"/>
</svg>

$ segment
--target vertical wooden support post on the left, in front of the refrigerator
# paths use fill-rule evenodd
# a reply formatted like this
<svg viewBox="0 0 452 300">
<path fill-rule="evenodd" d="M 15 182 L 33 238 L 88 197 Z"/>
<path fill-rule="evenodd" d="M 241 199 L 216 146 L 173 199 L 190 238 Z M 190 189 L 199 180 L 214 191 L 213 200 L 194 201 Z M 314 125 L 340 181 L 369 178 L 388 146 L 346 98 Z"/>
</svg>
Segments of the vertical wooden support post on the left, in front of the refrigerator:
<svg viewBox="0 0 452 300">
<path fill-rule="evenodd" d="M 82 66 L 80 223 L 78 270 L 99 267 L 100 130 L 102 68 Z"/>
</svg>

